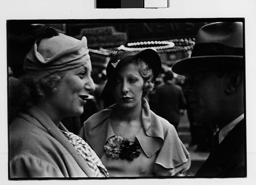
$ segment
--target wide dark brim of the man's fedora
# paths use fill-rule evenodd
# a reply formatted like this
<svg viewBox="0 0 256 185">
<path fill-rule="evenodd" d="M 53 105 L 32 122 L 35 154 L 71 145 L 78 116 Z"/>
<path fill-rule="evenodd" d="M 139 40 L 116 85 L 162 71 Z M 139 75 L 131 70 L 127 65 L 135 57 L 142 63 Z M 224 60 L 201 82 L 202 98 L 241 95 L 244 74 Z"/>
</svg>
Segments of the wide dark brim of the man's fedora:
<svg viewBox="0 0 256 185">
<path fill-rule="evenodd" d="M 239 68 L 243 70 L 243 57 L 235 55 L 190 57 L 175 63 L 172 66 L 172 71 L 176 74 L 186 75 L 189 72 L 219 71 L 223 68 Z"/>
</svg>

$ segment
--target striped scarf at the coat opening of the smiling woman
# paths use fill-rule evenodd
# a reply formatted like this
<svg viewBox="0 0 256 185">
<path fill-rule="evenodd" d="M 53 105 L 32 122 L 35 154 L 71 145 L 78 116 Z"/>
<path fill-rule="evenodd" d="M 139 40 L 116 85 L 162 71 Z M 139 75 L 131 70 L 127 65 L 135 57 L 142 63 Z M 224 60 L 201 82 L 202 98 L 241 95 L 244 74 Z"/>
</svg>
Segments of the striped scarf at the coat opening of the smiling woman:
<svg viewBox="0 0 256 185">
<path fill-rule="evenodd" d="M 65 132 L 60 130 L 64 133 L 67 139 L 71 142 L 71 144 L 76 148 L 79 154 L 84 158 L 87 165 L 92 169 L 96 177 L 109 177 L 108 171 L 105 166 L 102 164 L 101 160 L 93 151 L 93 149 L 84 141 L 81 137 L 73 134 L 72 132 Z"/>
</svg>

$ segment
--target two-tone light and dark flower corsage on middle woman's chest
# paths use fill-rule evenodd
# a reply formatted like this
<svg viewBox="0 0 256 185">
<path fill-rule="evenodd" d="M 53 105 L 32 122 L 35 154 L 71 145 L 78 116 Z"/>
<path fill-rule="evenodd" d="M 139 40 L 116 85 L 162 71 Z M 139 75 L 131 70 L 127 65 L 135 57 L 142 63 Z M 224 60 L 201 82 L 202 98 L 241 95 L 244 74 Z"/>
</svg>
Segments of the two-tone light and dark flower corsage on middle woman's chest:
<svg viewBox="0 0 256 185">
<path fill-rule="evenodd" d="M 140 156 L 140 143 L 137 138 L 135 141 L 123 139 L 120 135 L 110 137 L 104 145 L 104 151 L 113 159 L 126 159 L 133 161 L 134 158 Z"/>
</svg>

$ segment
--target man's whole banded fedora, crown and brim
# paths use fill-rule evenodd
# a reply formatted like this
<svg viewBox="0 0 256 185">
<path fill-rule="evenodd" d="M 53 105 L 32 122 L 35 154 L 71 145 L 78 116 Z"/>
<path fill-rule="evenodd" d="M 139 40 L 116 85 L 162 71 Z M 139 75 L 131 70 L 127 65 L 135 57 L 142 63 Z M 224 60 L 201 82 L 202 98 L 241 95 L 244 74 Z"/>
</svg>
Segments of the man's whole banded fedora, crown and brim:
<svg viewBox="0 0 256 185">
<path fill-rule="evenodd" d="M 191 57 L 175 63 L 172 71 L 185 75 L 224 67 L 243 69 L 243 55 L 243 23 L 210 23 L 198 31 Z"/>
</svg>

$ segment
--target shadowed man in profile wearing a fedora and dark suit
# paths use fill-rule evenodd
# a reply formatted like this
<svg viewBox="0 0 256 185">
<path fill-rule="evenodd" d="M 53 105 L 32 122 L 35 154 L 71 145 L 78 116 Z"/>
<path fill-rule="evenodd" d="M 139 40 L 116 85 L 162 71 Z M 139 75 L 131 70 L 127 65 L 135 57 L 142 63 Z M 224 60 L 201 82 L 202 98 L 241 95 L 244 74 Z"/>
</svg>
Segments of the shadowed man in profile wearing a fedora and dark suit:
<svg viewBox="0 0 256 185">
<path fill-rule="evenodd" d="M 246 176 L 243 55 L 242 23 L 211 23 L 198 31 L 191 57 L 172 67 L 186 76 L 195 120 L 219 128 L 196 176 Z"/>
</svg>

